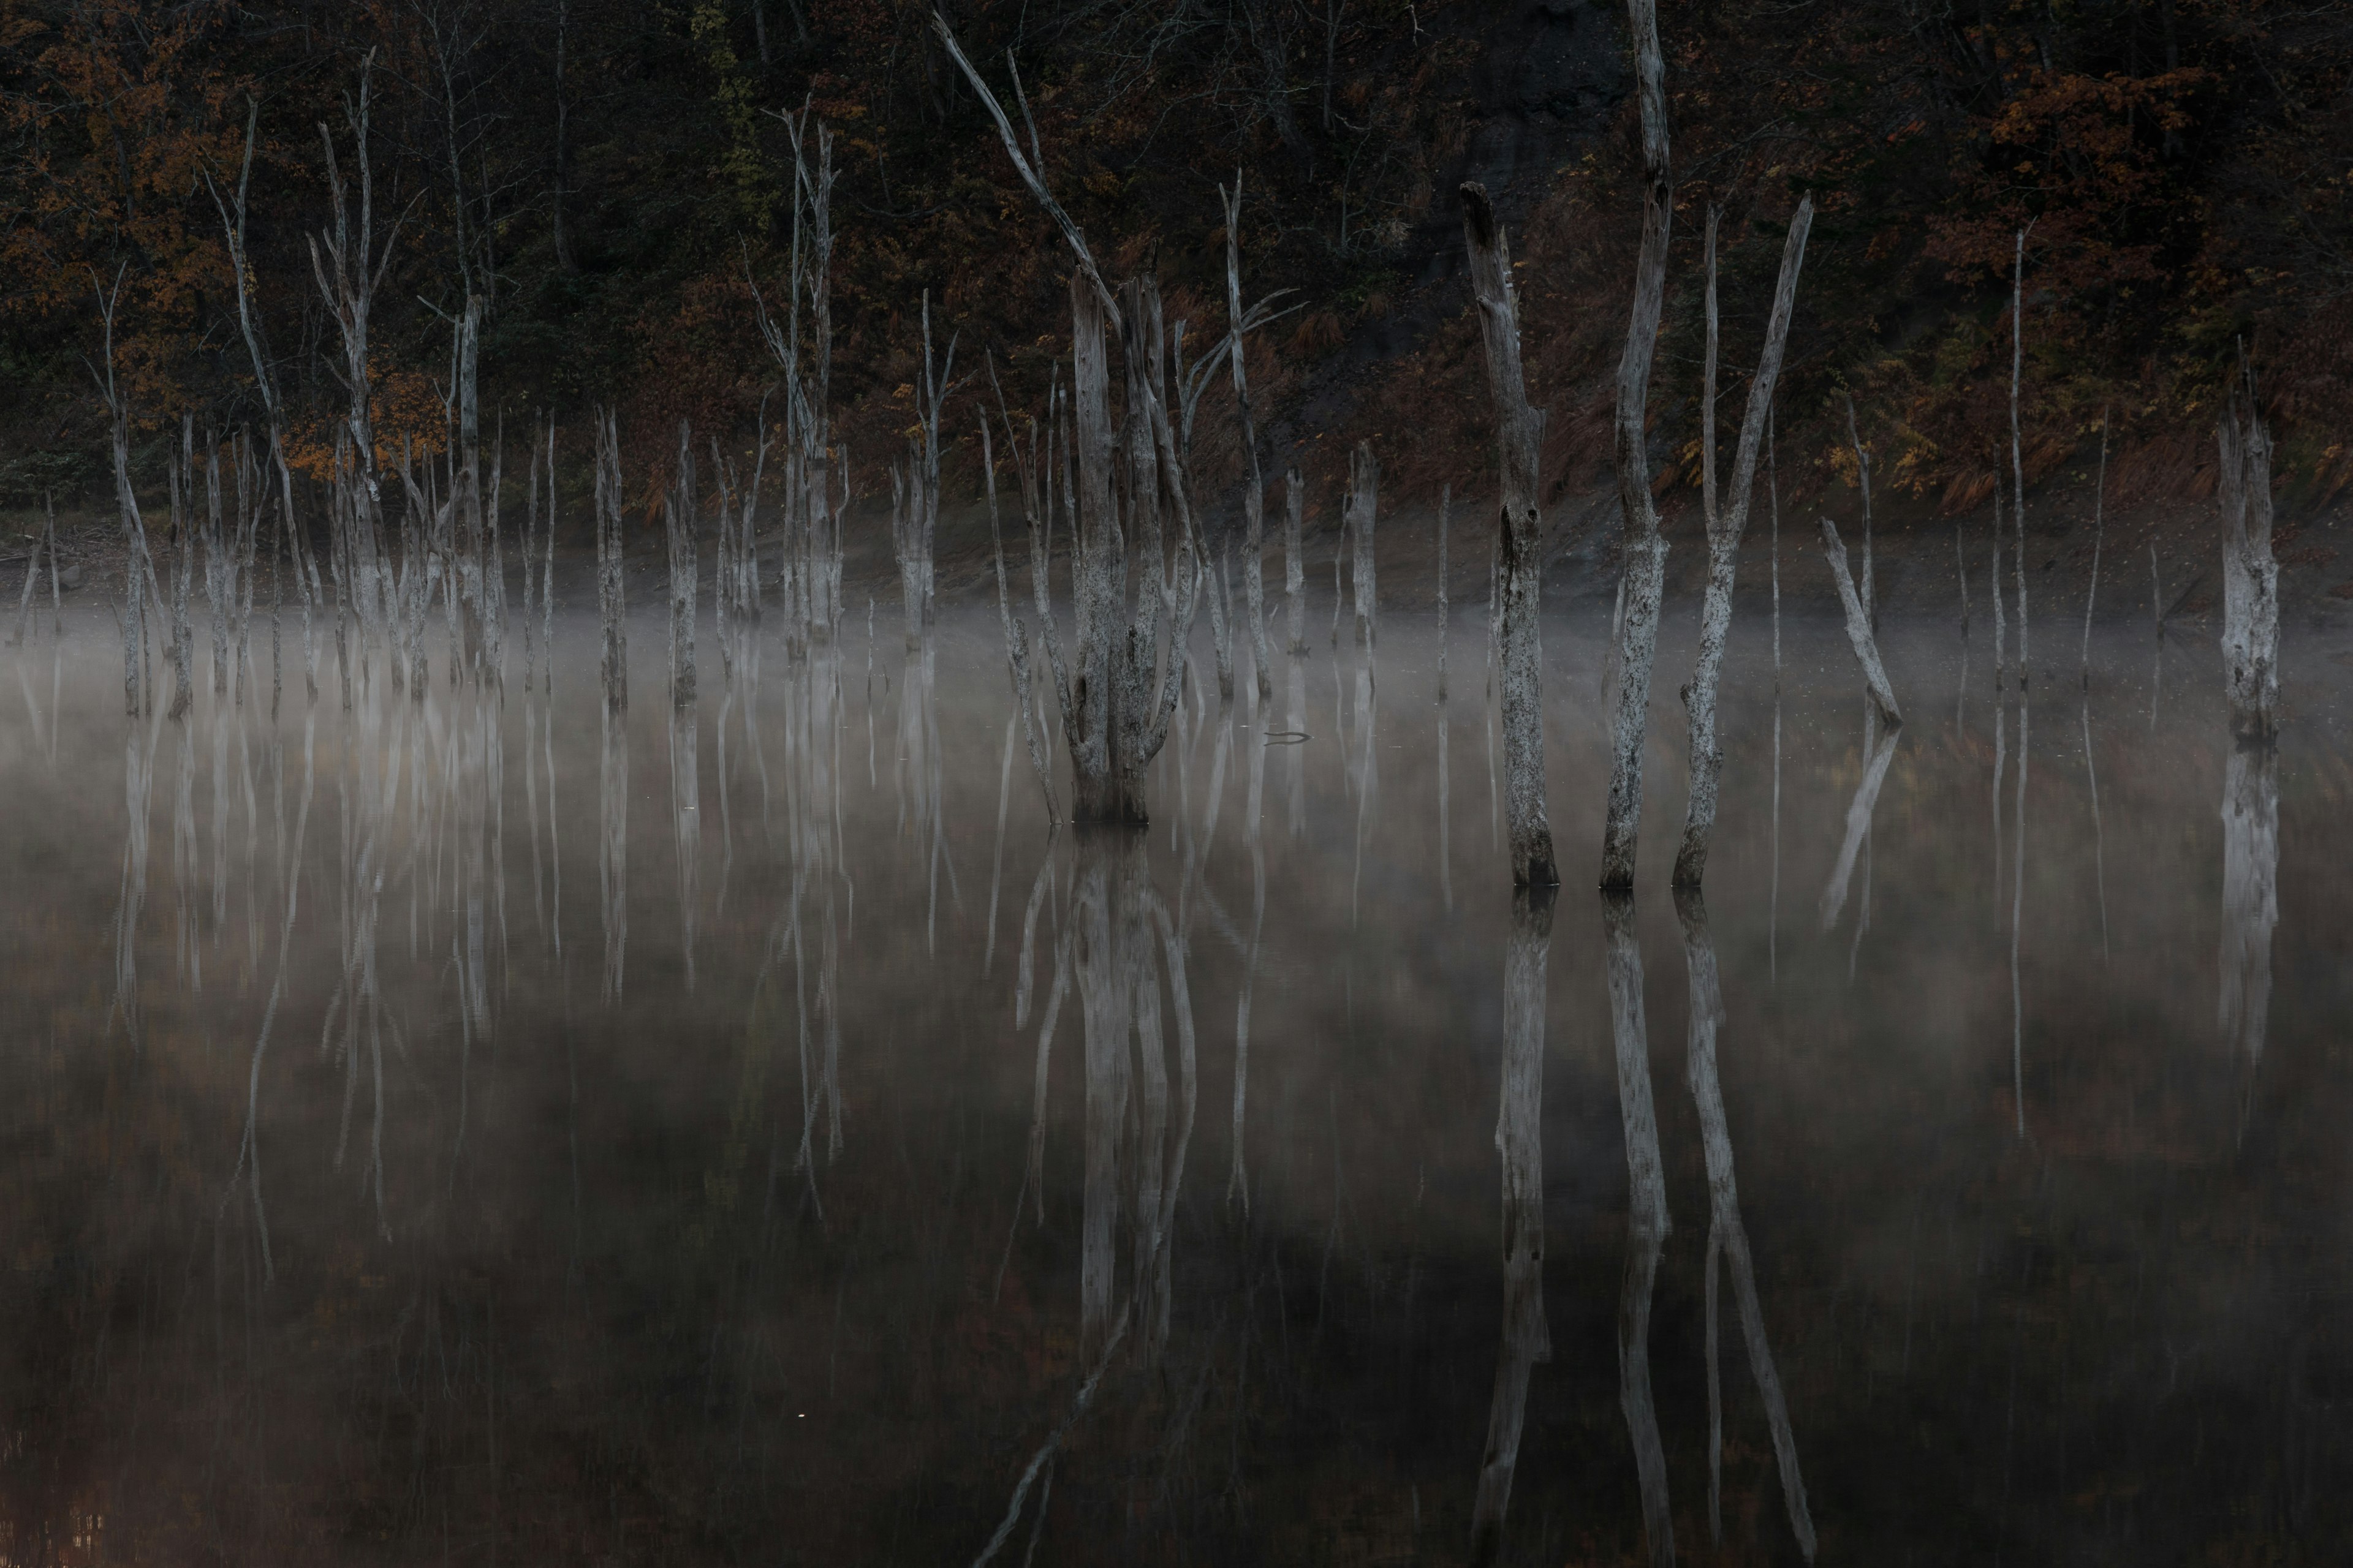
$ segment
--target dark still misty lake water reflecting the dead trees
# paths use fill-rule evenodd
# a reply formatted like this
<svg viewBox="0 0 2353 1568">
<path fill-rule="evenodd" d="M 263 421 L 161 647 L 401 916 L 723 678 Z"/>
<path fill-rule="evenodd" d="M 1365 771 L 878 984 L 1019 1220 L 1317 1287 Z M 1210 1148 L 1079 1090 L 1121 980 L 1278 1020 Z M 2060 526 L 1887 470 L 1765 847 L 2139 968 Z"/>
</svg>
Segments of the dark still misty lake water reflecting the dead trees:
<svg viewBox="0 0 2353 1568">
<path fill-rule="evenodd" d="M 2212 644 L 1897 630 L 1885 750 L 1744 623 L 1678 910 L 1671 632 L 1607 907 L 1560 621 L 1515 912 L 1468 621 L 1052 839 L 993 616 L 706 630 L 692 726 L 652 621 L 619 724 L 591 625 L 275 722 L 7 654 L 0 1561 L 2353 1552 L 2353 672 L 2254 755 Z"/>
</svg>

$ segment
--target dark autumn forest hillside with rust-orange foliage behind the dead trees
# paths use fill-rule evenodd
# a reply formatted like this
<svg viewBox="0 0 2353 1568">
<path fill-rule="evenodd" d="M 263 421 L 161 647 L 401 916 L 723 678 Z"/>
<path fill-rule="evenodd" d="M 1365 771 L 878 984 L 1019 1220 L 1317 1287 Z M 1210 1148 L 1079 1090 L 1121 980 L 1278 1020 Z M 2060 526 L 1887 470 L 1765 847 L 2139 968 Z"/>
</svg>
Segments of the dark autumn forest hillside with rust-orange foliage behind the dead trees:
<svg viewBox="0 0 2353 1568">
<path fill-rule="evenodd" d="M 1275 463 L 1313 477 L 1372 437 L 1391 494 L 1485 489 L 1454 190 L 1487 181 L 1551 409 L 1546 484 L 1600 480 L 1640 212 L 1621 7 L 948 0 L 946 16 L 1000 92 L 1019 61 L 1096 254 L 1158 268 L 1198 331 L 1224 331 L 1217 186 L 1240 169 L 1245 292 L 1301 303 L 1254 341 L 1252 381 Z M 741 440 L 774 381 L 746 266 L 781 294 L 791 223 L 791 132 L 769 110 L 807 103 L 840 139 L 835 428 L 859 489 L 887 489 L 922 294 L 960 369 L 988 348 L 1014 397 L 1042 388 L 1068 308 L 1066 249 L 927 24 L 904 0 L 0 0 L 0 501 L 96 489 L 99 282 L 122 280 L 115 355 L 153 447 L 184 409 L 259 416 L 207 188 L 235 183 L 249 115 L 266 350 L 296 435 L 322 428 L 341 390 L 306 249 L 329 216 L 320 125 L 348 158 L 369 52 L 376 207 L 405 214 L 379 294 L 379 428 L 440 440 L 442 313 L 473 287 L 485 402 L 518 430 L 529 409 L 614 404 L 642 494 L 678 418 Z M 1737 407 L 1807 190 L 1784 473 L 1852 463 L 1828 440 L 1852 395 L 1878 475 L 1979 503 L 2007 440 L 2012 244 L 2033 223 L 2028 477 L 2106 416 L 2111 503 L 2209 487 L 2245 343 L 2285 482 L 2318 501 L 2353 480 L 2353 7 L 1668 0 L 1661 38 L 1680 193 L 1652 397 L 1664 487 L 1697 480 L 1704 212 L 1725 209 Z M 1205 425 L 1231 447 L 1226 421 Z"/>
</svg>

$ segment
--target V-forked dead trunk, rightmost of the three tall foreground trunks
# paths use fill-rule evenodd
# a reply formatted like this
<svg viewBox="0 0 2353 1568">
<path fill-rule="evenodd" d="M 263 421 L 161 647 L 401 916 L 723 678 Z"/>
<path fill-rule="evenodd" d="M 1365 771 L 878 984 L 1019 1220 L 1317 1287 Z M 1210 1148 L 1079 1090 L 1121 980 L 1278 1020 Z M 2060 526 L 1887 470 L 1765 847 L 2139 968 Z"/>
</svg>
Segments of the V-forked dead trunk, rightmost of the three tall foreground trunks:
<svg viewBox="0 0 2353 1568">
<path fill-rule="evenodd" d="M 1774 284 L 1772 317 L 1765 327 L 1765 353 L 1748 383 L 1748 411 L 1741 416 L 1741 442 L 1732 456 L 1732 494 L 1715 498 L 1715 212 L 1708 212 L 1708 360 L 1706 388 L 1699 400 L 1699 473 L 1701 505 L 1708 520 L 1708 595 L 1699 611 L 1699 663 L 1685 701 L 1692 712 L 1692 795 L 1682 816 L 1682 849 L 1675 853 L 1675 886 L 1699 886 L 1708 870 L 1708 835 L 1715 832 L 1715 783 L 1725 769 L 1725 748 L 1715 736 L 1715 686 L 1725 672 L 1725 637 L 1732 630 L 1732 578 L 1741 564 L 1741 534 L 1748 529 L 1748 498 L 1755 491 L 1758 447 L 1765 442 L 1765 414 L 1772 388 L 1781 378 L 1781 346 L 1788 341 L 1788 317 L 1798 306 L 1798 273 L 1805 266 L 1805 235 L 1814 226 L 1814 197 L 1798 202 L 1781 247 L 1781 282 Z"/>
</svg>

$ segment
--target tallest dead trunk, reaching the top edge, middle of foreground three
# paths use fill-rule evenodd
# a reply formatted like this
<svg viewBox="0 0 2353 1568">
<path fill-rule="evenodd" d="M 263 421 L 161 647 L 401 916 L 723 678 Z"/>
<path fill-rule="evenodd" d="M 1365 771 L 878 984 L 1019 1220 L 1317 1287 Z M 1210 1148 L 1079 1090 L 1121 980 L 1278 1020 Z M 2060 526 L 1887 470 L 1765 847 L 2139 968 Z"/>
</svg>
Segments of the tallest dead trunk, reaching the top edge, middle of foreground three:
<svg viewBox="0 0 2353 1568">
<path fill-rule="evenodd" d="M 1666 240 L 1675 219 L 1675 188 L 1666 160 L 1666 66 L 1659 59 L 1657 0 L 1626 0 L 1633 28 L 1635 94 L 1642 103 L 1642 249 L 1633 270 L 1633 317 L 1617 381 L 1617 477 L 1626 515 L 1624 602 L 1619 625 L 1617 712 L 1609 726 L 1609 816 L 1602 823 L 1602 886 L 1633 886 L 1635 839 L 1642 830 L 1642 736 L 1649 726 L 1649 668 L 1659 654 L 1659 597 L 1666 590 L 1666 541 L 1649 498 L 1649 451 L 1642 425 L 1649 407 L 1649 360 L 1659 346 L 1666 306 Z"/>
</svg>

